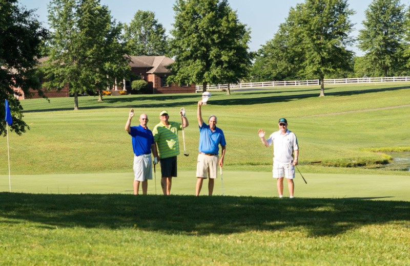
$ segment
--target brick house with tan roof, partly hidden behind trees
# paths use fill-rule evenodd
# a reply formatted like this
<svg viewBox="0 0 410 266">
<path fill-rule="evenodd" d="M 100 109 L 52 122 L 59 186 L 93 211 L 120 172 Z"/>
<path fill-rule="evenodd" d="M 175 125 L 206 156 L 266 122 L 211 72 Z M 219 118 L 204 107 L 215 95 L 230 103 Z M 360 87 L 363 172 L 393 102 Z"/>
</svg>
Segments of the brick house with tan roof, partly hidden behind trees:
<svg viewBox="0 0 410 266">
<path fill-rule="evenodd" d="M 131 56 L 131 72 L 140 76 L 148 82 L 148 94 L 166 94 L 166 93 L 194 93 L 195 84 L 170 84 L 167 82 L 170 71 L 166 68 L 167 65 L 174 62 L 173 59 L 166 56 Z M 40 63 L 46 61 L 48 57 L 40 58 Z M 118 95 L 118 91 L 131 91 L 132 77 L 124 77 L 116 79 L 116 83 L 111 88 L 112 95 Z M 123 84 L 126 84 L 124 87 Z M 19 88 L 14 89 L 20 93 L 17 96 L 20 100 L 25 99 L 23 92 Z M 36 91 L 30 90 L 32 98 L 39 98 Z M 60 91 L 51 90 L 44 93 L 49 98 L 54 97 L 70 97 L 68 86 L 64 86 Z"/>
</svg>

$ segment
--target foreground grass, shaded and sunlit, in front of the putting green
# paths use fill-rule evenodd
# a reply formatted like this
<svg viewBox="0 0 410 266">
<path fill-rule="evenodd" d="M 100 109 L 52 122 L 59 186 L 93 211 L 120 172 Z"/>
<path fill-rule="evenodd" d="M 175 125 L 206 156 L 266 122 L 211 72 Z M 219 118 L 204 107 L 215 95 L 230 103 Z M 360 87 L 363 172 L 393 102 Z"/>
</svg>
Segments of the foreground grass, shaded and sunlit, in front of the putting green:
<svg viewBox="0 0 410 266">
<path fill-rule="evenodd" d="M 3 265 L 410 263 L 409 202 L 20 193 L 0 201 Z"/>
</svg>

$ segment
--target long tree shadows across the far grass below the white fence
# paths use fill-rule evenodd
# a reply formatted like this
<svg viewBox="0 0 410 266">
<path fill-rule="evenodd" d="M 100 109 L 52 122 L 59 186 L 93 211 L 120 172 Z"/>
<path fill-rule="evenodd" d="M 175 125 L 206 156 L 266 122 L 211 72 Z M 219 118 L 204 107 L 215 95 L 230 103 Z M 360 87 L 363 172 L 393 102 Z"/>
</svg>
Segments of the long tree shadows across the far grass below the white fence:
<svg viewBox="0 0 410 266">
<path fill-rule="evenodd" d="M 384 91 L 396 91 L 410 88 L 410 86 L 401 86 L 401 87 L 387 87 L 387 88 L 374 88 L 366 90 L 352 90 L 352 91 L 337 91 L 332 92 L 334 87 L 325 88 L 325 95 L 327 96 L 347 96 L 347 95 L 358 95 L 358 94 L 367 94 L 367 93 L 377 93 Z M 221 100 L 211 100 L 211 105 L 252 105 L 260 103 L 274 103 L 274 102 L 289 102 L 297 99 L 312 98 L 319 96 L 319 88 L 309 89 L 305 88 L 300 89 L 263 89 L 264 92 L 255 91 L 240 93 L 235 92 L 235 95 L 243 95 L 241 98 L 231 98 L 227 96 L 226 99 Z M 275 94 L 283 93 L 292 93 L 292 95 L 281 95 L 275 96 Z M 256 95 L 256 96 L 255 96 Z M 246 97 L 249 96 L 249 97 Z M 200 99 L 200 94 L 186 94 L 186 95 L 151 95 L 151 96 L 138 96 L 137 98 L 130 97 L 120 97 L 120 96 L 111 96 L 113 98 L 104 98 L 104 106 L 85 106 L 79 107 L 80 109 L 103 109 L 103 108 L 170 108 L 176 106 L 187 106 L 195 105 Z M 182 99 L 185 99 L 181 101 Z M 186 100 L 188 99 L 188 100 Z M 173 100 L 170 102 L 170 100 Z M 96 101 L 96 100 L 95 100 Z M 146 101 L 146 102 L 142 102 Z M 165 102 L 166 101 L 166 102 Z M 142 103 L 140 103 L 142 102 Z M 94 104 L 94 102 L 92 103 Z M 120 104 L 120 105 L 114 105 Z M 49 108 L 49 109 L 34 109 L 34 110 L 25 110 L 23 113 L 34 113 L 34 112 L 51 112 L 51 111 L 64 111 L 64 110 L 73 110 L 70 108 Z"/>
</svg>

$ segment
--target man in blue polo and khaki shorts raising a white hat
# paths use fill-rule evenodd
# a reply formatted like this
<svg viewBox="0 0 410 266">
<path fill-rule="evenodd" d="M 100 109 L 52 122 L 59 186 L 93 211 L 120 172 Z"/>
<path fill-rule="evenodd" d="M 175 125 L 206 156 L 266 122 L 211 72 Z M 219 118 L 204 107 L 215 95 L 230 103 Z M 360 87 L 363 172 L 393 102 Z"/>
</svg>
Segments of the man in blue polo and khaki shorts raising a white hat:
<svg viewBox="0 0 410 266">
<path fill-rule="evenodd" d="M 218 173 L 218 159 L 220 167 L 223 166 L 225 157 L 226 141 L 223 131 L 216 127 L 216 116 L 209 117 L 209 125 L 203 122 L 201 114 L 202 101 L 198 101 L 197 119 L 199 125 L 199 154 L 196 165 L 196 189 L 195 195 L 199 196 L 202 182 L 209 178 L 208 194 L 211 196 L 214 191 L 214 181 Z M 222 155 L 219 158 L 219 144 L 221 145 Z"/>
</svg>

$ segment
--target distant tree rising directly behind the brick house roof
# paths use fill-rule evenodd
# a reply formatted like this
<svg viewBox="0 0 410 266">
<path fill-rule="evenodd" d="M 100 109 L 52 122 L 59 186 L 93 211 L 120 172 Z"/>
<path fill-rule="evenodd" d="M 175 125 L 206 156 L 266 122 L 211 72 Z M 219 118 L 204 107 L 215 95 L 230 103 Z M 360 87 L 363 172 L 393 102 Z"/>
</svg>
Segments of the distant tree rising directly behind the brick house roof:
<svg viewBox="0 0 410 266">
<path fill-rule="evenodd" d="M 138 10 L 130 25 L 124 25 L 124 39 L 130 55 L 168 55 L 169 41 L 155 13 Z"/>
</svg>

